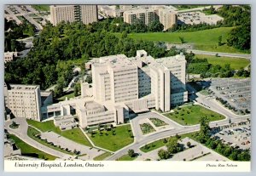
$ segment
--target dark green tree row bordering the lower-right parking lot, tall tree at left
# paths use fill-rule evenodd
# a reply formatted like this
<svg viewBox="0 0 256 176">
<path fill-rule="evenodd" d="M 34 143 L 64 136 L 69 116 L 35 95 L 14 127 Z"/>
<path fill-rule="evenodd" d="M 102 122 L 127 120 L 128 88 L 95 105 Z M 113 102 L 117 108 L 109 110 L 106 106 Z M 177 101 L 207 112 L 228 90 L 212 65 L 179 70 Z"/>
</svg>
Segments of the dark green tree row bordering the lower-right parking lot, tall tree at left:
<svg viewBox="0 0 256 176">
<path fill-rule="evenodd" d="M 230 145 L 224 145 L 218 139 L 211 138 L 209 119 L 205 116 L 201 117 L 200 131 L 195 134 L 195 139 L 233 161 L 250 161 L 251 159 L 250 150 L 236 149 Z"/>
</svg>

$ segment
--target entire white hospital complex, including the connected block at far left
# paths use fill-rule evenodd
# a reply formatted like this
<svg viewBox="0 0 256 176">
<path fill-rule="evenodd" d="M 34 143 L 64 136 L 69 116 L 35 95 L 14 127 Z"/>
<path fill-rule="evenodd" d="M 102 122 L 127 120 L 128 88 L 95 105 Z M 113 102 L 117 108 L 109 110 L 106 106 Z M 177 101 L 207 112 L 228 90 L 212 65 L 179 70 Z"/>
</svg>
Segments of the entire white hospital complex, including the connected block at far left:
<svg viewBox="0 0 256 176">
<path fill-rule="evenodd" d="M 10 85 L 4 89 L 5 106 L 17 117 L 38 121 L 76 115 L 79 125 L 85 128 L 106 122 L 123 123 L 150 108 L 170 111 L 172 106 L 188 100 L 183 54 L 155 60 L 139 50 L 136 57 L 111 55 L 90 60 L 90 65 L 93 83 L 81 82 L 79 98 L 49 105 L 50 94 L 40 94 L 38 86 Z"/>
</svg>

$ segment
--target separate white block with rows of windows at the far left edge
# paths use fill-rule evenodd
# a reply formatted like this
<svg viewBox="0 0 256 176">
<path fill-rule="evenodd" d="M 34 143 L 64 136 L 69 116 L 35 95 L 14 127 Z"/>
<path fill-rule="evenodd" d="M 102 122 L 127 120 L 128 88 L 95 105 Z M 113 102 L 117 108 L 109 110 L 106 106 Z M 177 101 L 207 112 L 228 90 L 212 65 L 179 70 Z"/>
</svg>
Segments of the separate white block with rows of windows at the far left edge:
<svg viewBox="0 0 256 176">
<path fill-rule="evenodd" d="M 41 121 L 41 106 L 52 103 L 52 93 L 39 86 L 4 83 L 4 106 L 13 116 Z"/>
</svg>

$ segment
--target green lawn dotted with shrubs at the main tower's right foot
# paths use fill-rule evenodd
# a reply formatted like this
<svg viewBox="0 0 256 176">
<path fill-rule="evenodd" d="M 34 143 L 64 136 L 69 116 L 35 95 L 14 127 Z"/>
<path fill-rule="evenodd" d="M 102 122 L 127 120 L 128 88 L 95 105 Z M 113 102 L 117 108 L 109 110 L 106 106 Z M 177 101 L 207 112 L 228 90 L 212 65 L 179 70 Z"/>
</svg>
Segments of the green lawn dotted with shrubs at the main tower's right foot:
<svg viewBox="0 0 256 176">
<path fill-rule="evenodd" d="M 212 121 L 218 121 L 224 119 L 224 116 L 218 114 L 217 112 L 208 110 L 201 105 L 189 105 L 177 108 L 172 113 L 165 114 L 168 118 L 173 121 L 180 123 L 181 125 L 195 125 L 200 123 L 201 116 L 207 116 Z"/>
</svg>

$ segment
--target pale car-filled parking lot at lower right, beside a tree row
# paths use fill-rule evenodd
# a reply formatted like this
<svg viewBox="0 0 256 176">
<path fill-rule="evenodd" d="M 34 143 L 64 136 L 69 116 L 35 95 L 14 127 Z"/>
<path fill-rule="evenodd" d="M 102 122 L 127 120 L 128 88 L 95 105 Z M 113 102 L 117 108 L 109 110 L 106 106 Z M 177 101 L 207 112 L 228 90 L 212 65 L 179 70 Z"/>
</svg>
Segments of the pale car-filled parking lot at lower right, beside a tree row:
<svg viewBox="0 0 256 176">
<path fill-rule="evenodd" d="M 251 126 L 249 124 L 224 128 L 215 134 L 224 144 L 240 149 L 251 147 Z"/>
</svg>

